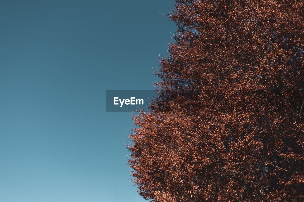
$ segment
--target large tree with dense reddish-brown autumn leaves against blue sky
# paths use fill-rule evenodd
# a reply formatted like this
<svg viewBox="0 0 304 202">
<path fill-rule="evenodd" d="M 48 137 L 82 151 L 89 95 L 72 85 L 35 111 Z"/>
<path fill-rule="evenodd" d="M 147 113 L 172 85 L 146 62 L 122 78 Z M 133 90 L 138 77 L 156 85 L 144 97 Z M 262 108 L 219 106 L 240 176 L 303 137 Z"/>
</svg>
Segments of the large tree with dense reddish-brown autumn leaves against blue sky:
<svg viewBox="0 0 304 202">
<path fill-rule="evenodd" d="M 152 201 L 304 201 L 304 6 L 177 0 L 130 166 Z"/>
</svg>

